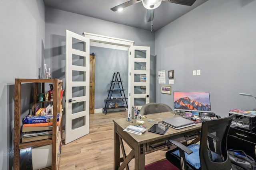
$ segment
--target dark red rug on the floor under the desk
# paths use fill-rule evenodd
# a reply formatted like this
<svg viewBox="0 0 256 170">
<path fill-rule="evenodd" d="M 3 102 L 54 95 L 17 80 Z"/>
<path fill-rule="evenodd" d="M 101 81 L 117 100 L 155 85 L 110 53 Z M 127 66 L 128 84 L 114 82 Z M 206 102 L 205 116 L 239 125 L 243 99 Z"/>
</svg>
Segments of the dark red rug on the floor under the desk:
<svg viewBox="0 0 256 170">
<path fill-rule="evenodd" d="M 145 170 L 179 170 L 168 160 L 162 160 L 145 165 Z"/>
</svg>

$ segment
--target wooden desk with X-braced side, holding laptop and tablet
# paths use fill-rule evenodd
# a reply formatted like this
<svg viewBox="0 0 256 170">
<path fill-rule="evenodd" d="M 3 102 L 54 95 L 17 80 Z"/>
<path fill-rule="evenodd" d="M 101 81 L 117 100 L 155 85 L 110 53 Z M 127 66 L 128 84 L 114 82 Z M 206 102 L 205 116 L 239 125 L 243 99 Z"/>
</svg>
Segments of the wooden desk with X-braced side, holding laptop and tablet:
<svg viewBox="0 0 256 170">
<path fill-rule="evenodd" d="M 154 122 L 148 122 L 148 119 L 172 117 L 174 112 L 163 112 L 163 113 L 154 113 L 146 115 L 147 118 L 144 118 L 144 126 L 147 127 L 147 130 L 154 125 Z M 174 117 L 178 117 L 175 115 Z M 128 163 L 132 158 L 135 158 L 135 170 L 144 170 L 145 168 L 145 154 L 154 152 L 156 150 L 164 149 L 170 147 L 172 144 L 167 143 L 169 139 L 176 139 L 181 143 L 186 142 L 190 139 L 198 137 L 197 131 L 201 129 L 202 123 L 198 123 L 195 126 L 186 127 L 183 129 L 173 129 L 169 128 L 164 135 L 159 135 L 151 132 L 144 132 L 142 135 L 136 135 L 133 133 L 128 133 L 123 131 L 128 125 L 135 125 L 135 121 L 130 123 L 126 121 L 126 118 L 114 119 L 114 170 L 122 170 L 124 168 L 128 169 Z M 158 119 L 157 121 L 162 121 Z M 128 155 L 126 155 L 123 145 L 123 140 L 129 145 L 132 149 Z M 159 144 L 163 144 L 159 146 Z M 120 158 L 120 148 L 122 149 L 123 157 Z M 120 162 L 122 164 L 120 165 Z"/>
</svg>

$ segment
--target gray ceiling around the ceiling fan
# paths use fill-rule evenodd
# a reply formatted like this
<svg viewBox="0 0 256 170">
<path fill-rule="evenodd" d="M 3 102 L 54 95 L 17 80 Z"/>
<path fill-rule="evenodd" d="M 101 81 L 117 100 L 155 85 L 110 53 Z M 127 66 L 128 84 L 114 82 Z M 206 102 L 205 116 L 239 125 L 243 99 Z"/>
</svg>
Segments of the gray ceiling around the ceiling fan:
<svg viewBox="0 0 256 170">
<path fill-rule="evenodd" d="M 146 22 L 146 9 L 143 7 L 142 2 L 129 6 L 122 12 L 113 12 L 110 10 L 110 8 L 127 1 L 129 0 L 44 0 L 44 4 L 51 8 L 151 30 L 151 22 Z M 206 1 L 196 0 L 192 6 L 163 1 L 155 9 L 152 30 L 157 31 Z"/>
</svg>

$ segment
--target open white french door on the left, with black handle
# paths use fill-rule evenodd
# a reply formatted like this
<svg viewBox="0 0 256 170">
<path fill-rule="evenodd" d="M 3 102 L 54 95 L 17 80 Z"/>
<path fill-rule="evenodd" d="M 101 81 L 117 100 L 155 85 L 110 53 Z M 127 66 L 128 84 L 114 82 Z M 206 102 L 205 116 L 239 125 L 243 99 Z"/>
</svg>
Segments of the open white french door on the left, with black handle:
<svg viewBox="0 0 256 170">
<path fill-rule="evenodd" d="M 66 30 L 65 144 L 89 133 L 90 39 Z"/>
</svg>

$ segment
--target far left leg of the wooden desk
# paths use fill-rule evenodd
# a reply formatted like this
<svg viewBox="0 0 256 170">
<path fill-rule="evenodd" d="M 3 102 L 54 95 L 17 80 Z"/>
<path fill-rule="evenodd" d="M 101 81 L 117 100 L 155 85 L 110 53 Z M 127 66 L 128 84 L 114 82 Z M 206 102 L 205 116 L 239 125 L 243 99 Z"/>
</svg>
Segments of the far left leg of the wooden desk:
<svg viewBox="0 0 256 170">
<path fill-rule="evenodd" d="M 114 124 L 114 170 L 120 166 L 120 141 L 116 133 L 116 124 Z"/>
</svg>

